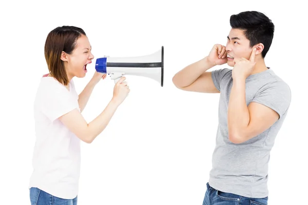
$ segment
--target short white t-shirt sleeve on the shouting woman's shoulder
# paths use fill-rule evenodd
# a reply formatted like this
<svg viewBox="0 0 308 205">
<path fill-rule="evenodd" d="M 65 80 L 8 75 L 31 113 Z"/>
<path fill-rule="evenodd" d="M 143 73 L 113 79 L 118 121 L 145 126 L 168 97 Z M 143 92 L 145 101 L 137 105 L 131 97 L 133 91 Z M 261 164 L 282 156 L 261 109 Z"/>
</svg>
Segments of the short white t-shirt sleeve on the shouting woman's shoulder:
<svg viewBox="0 0 308 205">
<path fill-rule="evenodd" d="M 51 121 L 75 108 L 78 109 L 78 106 L 76 106 L 78 105 L 78 99 L 74 98 L 66 88 L 54 86 L 45 91 L 41 94 L 40 108 Z"/>
</svg>

